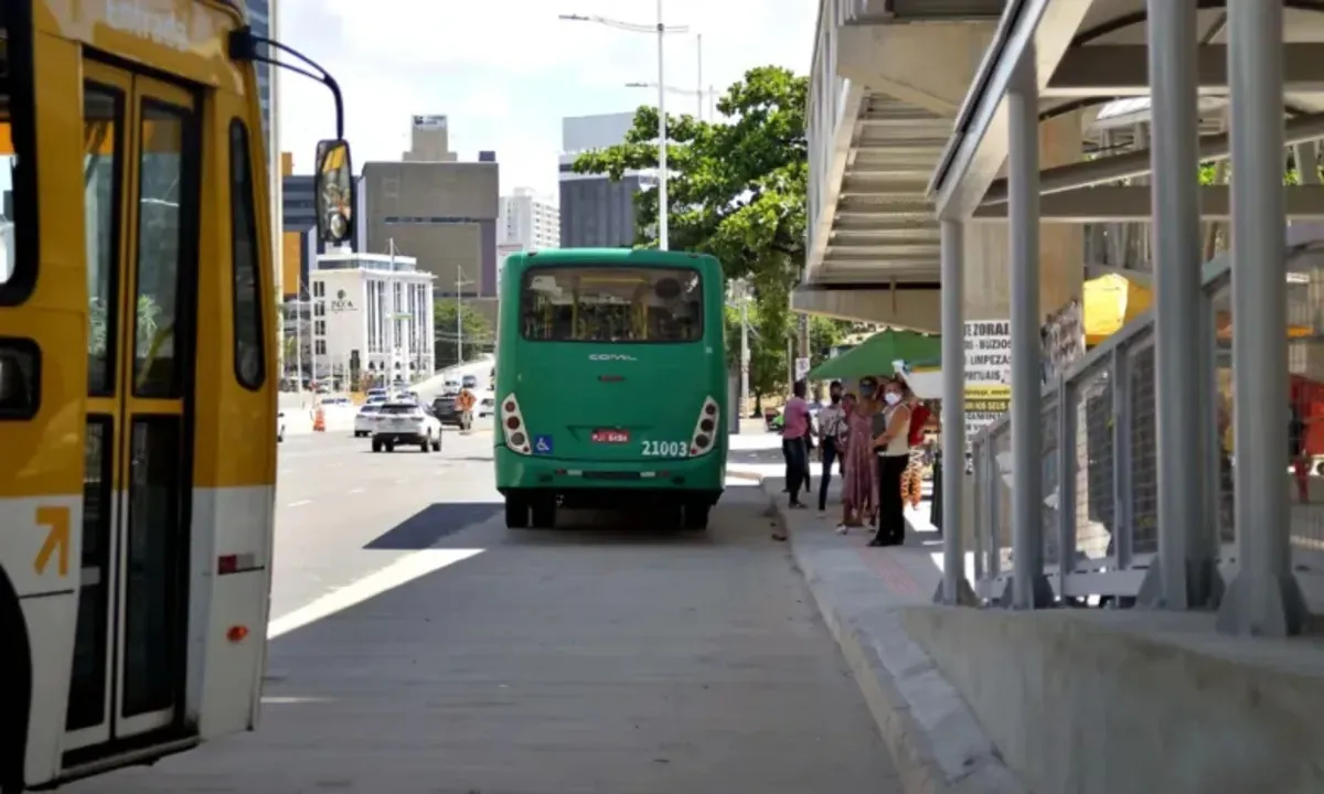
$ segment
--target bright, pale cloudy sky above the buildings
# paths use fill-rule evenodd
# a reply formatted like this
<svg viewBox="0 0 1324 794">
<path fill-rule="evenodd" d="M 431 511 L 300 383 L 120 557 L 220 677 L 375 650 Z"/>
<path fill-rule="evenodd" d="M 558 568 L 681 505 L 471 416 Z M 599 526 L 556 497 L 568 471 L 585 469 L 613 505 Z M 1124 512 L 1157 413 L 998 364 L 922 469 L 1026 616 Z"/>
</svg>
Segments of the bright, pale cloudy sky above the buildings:
<svg viewBox="0 0 1324 794">
<path fill-rule="evenodd" d="M 414 114 L 449 116 L 461 160 L 495 150 L 500 191 L 531 187 L 555 196 L 561 118 L 655 105 L 657 36 L 559 13 L 600 15 L 654 25 L 651 0 L 277 0 L 282 42 L 340 83 L 355 169 L 399 160 Z M 666 37 L 666 83 L 719 90 L 747 69 L 786 66 L 808 74 L 817 0 L 666 0 L 663 21 L 687 25 Z M 667 95 L 667 111 L 694 112 L 692 95 Z M 335 106 L 320 83 L 286 71 L 278 94 L 281 150 L 295 173 L 312 168 L 314 147 L 335 134 Z M 707 111 L 706 111 L 707 112 Z"/>
</svg>

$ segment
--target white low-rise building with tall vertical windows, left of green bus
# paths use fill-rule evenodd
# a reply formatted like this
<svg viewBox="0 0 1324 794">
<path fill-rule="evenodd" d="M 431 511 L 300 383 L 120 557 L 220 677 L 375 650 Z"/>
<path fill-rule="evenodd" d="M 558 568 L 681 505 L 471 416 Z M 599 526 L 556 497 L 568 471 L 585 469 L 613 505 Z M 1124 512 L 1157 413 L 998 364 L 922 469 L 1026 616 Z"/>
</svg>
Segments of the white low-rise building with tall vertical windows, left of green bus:
<svg viewBox="0 0 1324 794">
<path fill-rule="evenodd" d="M 430 377 L 433 281 L 413 257 L 323 254 L 308 274 L 318 377 L 357 385 Z"/>
</svg>

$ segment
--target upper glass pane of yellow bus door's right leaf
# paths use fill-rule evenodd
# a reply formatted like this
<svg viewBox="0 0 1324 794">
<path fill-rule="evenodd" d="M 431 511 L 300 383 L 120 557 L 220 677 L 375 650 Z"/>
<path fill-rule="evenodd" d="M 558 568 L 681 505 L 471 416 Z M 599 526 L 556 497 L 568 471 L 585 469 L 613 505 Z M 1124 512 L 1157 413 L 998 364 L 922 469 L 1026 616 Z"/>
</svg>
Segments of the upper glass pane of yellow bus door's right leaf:
<svg viewBox="0 0 1324 794">
<path fill-rule="evenodd" d="M 175 327 L 183 308 L 180 277 L 193 271 L 185 263 L 184 209 L 196 201 L 184 195 L 196 173 L 185 152 L 195 123 L 184 107 L 143 102 L 138 189 L 138 295 L 134 332 L 134 393 L 139 397 L 183 396 L 183 372 L 175 347 Z M 192 279 L 189 279 L 192 281 Z"/>
</svg>

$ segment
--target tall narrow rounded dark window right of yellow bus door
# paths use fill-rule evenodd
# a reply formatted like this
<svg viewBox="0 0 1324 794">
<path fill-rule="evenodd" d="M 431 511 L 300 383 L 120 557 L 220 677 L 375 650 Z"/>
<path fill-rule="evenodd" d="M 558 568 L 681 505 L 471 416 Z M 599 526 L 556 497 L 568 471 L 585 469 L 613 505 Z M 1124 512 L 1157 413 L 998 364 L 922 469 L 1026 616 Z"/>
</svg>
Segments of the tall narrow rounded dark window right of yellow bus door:
<svg viewBox="0 0 1324 794">
<path fill-rule="evenodd" d="M 258 389 L 266 375 L 262 360 L 262 277 L 257 258 L 257 213 L 248 127 L 230 120 L 230 261 L 234 283 L 234 377 Z"/>
</svg>

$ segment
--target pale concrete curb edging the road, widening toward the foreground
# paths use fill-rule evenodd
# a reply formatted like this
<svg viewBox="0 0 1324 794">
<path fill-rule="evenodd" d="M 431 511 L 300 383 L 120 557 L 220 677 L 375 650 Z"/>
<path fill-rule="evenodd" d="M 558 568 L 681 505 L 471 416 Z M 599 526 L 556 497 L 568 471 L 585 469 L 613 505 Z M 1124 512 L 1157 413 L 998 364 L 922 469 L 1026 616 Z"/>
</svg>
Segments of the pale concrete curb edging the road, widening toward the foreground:
<svg viewBox="0 0 1324 794">
<path fill-rule="evenodd" d="M 854 617 L 847 613 L 828 592 L 808 544 L 796 543 L 796 532 L 776 508 L 776 496 L 767 496 L 788 535 L 796 566 L 887 745 L 906 794 L 1026 794 L 960 692 L 928 652 L 908 639 L 902 625 L 902 611 L 907 607 L 857 607 L 851 610 L 859 613 Z M 886 621 L 887 635 L 906 639 L 879 647 L 858 626 L 858 618 L 866 615 Z"/>
</svg>

